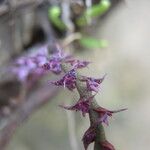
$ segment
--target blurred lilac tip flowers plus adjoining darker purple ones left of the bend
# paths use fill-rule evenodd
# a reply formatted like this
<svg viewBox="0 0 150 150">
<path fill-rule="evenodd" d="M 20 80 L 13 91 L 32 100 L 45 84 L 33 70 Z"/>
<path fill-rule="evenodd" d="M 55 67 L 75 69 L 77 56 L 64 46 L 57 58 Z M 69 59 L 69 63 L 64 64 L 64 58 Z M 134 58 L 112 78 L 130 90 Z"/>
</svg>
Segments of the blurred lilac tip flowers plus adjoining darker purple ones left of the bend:
<svg viewBox="0 0 150 150">
<path fill-rule="evenodd" d="M 39 48 L 38 51 L 32 52 L 29 56 L 17 59 L 11 70 L 19 80 L 26 82 L 31 75 L 37 78 L 49 71 L 60 74 L 62 61 L 69 58 L 70 56 L 63 53 L 58 46 L 57 50 L 50 55 L 46 45 Z"/>
</svg>

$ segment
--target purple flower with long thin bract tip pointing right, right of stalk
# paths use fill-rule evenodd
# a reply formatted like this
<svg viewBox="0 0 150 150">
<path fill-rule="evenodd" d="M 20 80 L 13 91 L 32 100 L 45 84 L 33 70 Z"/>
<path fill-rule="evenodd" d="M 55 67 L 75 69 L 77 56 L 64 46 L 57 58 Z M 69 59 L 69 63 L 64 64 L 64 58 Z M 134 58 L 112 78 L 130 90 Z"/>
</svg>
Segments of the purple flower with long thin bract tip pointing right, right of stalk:
<svg viewBox="0 0 150 150">
<path fill-rule="evenodd" d="M 94 109 L 94 111 L 96 111 L 99 114 L 99 119 L 98 119 L 98 123 L 105 123 L 106 125 L 108 125 L 108 118 L 111 117 L 113 115 L 113 113 L 117 113 L 117 112 L 121 112 L 121 111 L 125 111 L 127 110 L 125 109 L 119 109 L 119 110 L 107 110 L 105 108 L 99 107 L 97 109 Z"/>
</svg>

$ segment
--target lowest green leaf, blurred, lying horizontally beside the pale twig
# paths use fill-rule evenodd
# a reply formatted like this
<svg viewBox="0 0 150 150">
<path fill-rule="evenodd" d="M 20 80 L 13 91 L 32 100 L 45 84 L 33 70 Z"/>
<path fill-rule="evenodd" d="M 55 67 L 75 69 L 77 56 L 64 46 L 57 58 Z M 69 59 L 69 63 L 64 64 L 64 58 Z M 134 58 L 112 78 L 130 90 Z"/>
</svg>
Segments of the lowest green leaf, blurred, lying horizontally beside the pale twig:
<svg viewBox="0 0 150 150">
<path fill-rule="evenodd" d="M 106 48 L 108 46 L 108 41 L 92 37 L 82 37 L 79 43 L 85 48 Z"/>
</svg>

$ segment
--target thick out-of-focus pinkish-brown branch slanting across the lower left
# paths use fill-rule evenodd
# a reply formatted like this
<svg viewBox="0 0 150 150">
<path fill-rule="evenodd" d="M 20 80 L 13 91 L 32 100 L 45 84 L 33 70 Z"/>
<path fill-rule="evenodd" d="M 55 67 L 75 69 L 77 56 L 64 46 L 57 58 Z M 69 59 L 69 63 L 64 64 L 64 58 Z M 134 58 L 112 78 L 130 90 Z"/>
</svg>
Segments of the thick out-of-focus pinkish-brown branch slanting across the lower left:
<svg viewBox="0 0 150 150">
<path fill-rule="evenodd" d="M 51 86 L 43 86 L 33 92 L 27 100 L 18 107 L 7 119 L 3 120 L 0 128 L 0 149 L 4 150 L 14 131 L 39 107 L 49 102 L 58 92 Z"/>
</svg>

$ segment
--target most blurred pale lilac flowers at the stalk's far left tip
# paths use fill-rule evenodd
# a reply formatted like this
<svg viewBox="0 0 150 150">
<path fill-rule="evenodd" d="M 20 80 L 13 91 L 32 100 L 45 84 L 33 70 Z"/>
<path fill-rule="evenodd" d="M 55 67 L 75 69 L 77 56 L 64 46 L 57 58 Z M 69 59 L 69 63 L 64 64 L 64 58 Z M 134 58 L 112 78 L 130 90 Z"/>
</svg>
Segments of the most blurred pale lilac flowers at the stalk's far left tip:
<svg viewBox="0 0 150 150">
<path fill-rule="evenodd" d="M 26 82 L 31 75 L 34 78 L 38 78 L 44 74 L 41 66 L 46 63 L 47 56 L 48 51 L 46 46 L 41 47 L 40 51 L 32 53 L 30 56 L 17 59 L 11 70 L 22 82 Z"/>
</svg>

